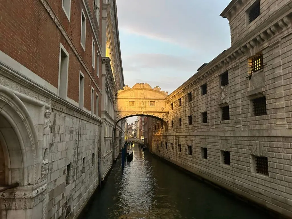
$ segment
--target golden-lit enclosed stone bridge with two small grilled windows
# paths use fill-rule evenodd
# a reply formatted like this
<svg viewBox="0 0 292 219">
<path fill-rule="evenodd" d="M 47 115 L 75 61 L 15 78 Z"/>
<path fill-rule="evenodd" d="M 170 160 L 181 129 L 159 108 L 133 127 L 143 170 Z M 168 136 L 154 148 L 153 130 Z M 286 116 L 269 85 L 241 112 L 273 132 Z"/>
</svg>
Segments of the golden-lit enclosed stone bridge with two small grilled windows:
<svg viewBox="0 0 292 219">
<path fill-rule="evenodd" d="M 116 95 L 116 120 L 132 115 L 154 116 L 168 121 L 168 92 L 161 91 L 158 86 L 138 83 L 132 88 L 126 85 Z"/>
</svg>

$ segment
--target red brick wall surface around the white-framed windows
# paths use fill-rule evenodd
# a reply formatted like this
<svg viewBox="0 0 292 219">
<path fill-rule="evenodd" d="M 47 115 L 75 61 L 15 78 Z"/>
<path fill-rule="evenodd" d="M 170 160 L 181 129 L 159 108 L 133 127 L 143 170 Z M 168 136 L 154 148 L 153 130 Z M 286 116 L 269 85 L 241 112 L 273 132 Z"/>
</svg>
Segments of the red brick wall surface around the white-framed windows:
<svg viewBox="0 0 292 219">
<path fill-rule="evenodd" d="M 44 2 L 46 4 L 46 1 Z M 88 3 L 90 13 L 93 17 L 93 25 L 95 25 L 98 30 L 100 42 L 101 33 L 99 32 L 98 23 L 94 14 L 93 0 L 88 1 Z M 87 69 L 84 69 L 84 66 L 75 55 L 70 44 L 40 0 L 0 1 L 0 50 L 52 84 L 55 88 L 58 88 L 61 43 L 69 53 L 67 97 L 79 102 L 79 70 L 81 70 L 84 74 L 84 107 L 91 110 L 91 86 L 94 88 L 94 96 L 96 96 L 96 92 L 99 97 L 101 96 L 95 83 L 90 79 L 88 74 L 88 72 L 90 72 L 101 88 L 101 80 L 97 77 L 96 60 L 95 68 L 93 69 L 92 67 L 92 39 L 95 41 L 95 59 L 96 51 L 99 52 L 100 61 L 98 68 L 99 75 L 101 76 L 102 55 L 98 48 L 100 43 L 98 43 L 93 36 L 93 30 L 82 1 L 71 1 L 70 22 L 62 9 L 62 1 L 48 0 L 48 4 L 65 29 L 65 34 L 71 39 L 73 46 L 84 61 Z M 85 51 L 80 44 L 81 8 L 86 17 Z M 99 102 L 100 101 L 101 98 L 99 98 Z M 100 105 L 99 103 L 99 106 Z M 94 103 L 94 106 L 96 106 L 96 103 Z M 101 107 L 99 107 L 99 116 L 100 108 Z"/>
</svg>

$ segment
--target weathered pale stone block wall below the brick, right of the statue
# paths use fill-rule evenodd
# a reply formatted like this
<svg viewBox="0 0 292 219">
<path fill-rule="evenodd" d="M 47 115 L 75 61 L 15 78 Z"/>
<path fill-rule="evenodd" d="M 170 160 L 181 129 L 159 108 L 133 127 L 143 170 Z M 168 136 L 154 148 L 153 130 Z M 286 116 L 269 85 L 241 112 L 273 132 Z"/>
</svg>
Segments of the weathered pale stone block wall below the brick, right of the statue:
<svg viewBox="0 0 292 219">
<path fill-rule="evenodd" d="M 100 124 L 53 109 L 48 218 L 76 218 L 99 184 Z M 50 159 L 49 159 L 50 160 Z"/>
</svg>

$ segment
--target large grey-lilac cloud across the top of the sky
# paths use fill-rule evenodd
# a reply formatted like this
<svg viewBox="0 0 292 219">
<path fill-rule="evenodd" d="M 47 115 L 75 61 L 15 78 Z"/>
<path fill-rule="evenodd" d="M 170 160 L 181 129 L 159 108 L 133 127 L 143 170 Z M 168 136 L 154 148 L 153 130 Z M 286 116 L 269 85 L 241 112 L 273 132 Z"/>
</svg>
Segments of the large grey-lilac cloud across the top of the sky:
<svg viewBox="0 0 292 219">
<path fill-rule="evenodd" d="M 219 16 L 229 2 L 119 0 L 119 29 L 215 57 L 230 46 L 228 21 Z"/>
</svg>

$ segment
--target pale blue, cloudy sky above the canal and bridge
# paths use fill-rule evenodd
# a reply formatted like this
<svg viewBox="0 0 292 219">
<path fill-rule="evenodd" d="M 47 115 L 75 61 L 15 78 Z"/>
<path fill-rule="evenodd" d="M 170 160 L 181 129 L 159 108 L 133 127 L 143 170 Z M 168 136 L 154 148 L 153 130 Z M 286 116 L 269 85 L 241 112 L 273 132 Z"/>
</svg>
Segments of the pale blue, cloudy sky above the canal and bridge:
<svg viewBox="0 0 292 219">
<path fill-rule="evenodd" d="M 220 13 L 230 1 L 117 0 L 125 85 L 148 83 L 170 94 L 229 48 L 228 20 Z"/>
</svg>

